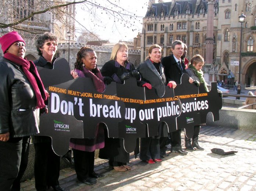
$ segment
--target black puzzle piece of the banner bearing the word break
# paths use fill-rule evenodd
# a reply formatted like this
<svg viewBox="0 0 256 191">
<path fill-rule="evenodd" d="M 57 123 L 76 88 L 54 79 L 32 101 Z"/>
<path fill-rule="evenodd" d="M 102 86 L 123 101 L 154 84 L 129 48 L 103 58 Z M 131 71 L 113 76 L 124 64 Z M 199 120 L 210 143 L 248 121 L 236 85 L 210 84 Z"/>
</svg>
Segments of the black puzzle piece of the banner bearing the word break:
<svg viewBox="0 0 256 191">
<path fill-rule="evenodd" d="M 81 85 L 82 84 L 82 85 Z M 70 90 L 81 92 L 84 96 L 77 96 L 74 116 L 83 121 L 83 136 L 85 138 L 94 138 L 96 126 L 103 122 L 108 129 L 109 137 L 118 137 L 118 122 L 124 120 L 125 104 L 115 96 L 116 83 L 111 82 L 107 85 L 103 93 L 96 91 L 92 79 L 78 78 L 75 83 L 69 87 Z M 106 99 L 106 98 L 116 99 Z M 80 106 L 79 106 L 79 103 Z"/>
</svg>

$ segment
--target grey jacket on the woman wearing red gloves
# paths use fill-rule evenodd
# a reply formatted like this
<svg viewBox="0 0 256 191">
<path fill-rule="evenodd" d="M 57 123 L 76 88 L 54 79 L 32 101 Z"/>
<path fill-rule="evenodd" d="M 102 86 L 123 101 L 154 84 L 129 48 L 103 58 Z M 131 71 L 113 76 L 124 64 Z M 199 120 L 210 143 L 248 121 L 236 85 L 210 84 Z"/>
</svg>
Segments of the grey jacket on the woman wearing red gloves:
<svg viewBox="0 0 256 191">
<path fill-rule="evenodd" d="M 153 65 L 150 59 L 147 59 L 144 63 L 141 63 L 138 68 L 138 72 L 141 74 L 141 85 L 146 82 L 151 84 L 156 89 L 156 94 L 159 97 L 163 97 L 165 93 L 166 76 L 164 74 L 164 67 L 160 63 L 159 70 Z"/>
</svg>

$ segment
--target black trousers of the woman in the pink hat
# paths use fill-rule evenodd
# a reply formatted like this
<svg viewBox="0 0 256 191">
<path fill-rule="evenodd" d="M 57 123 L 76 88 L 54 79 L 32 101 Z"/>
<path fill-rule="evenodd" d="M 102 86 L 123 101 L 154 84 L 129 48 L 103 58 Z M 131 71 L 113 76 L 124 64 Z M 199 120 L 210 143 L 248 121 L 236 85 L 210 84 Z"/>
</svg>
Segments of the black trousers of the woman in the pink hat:
<svg viewBox="0 0 256 191">
<path fill-rule="evenodd" d="M 7 142 L 0 141 L 0 190 L 11 190 L 12 184 L 18 176 L 20 166 L 21 170 L 19 175 L 22 177 L 24 174 L 26 164 L 28 164 L 28 154 L 25 152 L 22 156 L 22 150 L 28 151 L 28 149 L 23 149 L 22 146 L 29 146 L 29 144 L 22 143 L 29 143 L 29 141 L 30 136 L 10 137 Z"/>
</svg>

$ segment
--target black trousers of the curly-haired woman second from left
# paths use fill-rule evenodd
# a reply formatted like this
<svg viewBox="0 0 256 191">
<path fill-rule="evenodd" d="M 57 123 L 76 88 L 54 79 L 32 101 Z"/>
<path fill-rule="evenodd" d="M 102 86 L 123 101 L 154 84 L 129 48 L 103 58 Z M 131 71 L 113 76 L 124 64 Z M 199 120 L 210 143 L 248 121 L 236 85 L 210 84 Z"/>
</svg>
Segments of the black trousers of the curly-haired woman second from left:
<svg viewBox="0 0 256 191">
<path fill-rule="evenodd" d="M 35 143 L 35 187 L 37 191 L 47 186 L 59 185 L 60 157 L 51 148 L 51 142 Z"/>
</svg>

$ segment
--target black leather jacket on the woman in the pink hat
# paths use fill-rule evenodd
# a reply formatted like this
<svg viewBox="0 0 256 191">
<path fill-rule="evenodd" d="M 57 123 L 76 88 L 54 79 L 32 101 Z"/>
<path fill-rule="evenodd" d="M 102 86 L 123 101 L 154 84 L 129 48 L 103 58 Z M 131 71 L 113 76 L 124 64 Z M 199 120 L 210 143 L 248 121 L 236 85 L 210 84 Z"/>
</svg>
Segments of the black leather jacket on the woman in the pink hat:
<svg viewBox="0 0 256 191">
<path fill-rule="evenodd" d="M 21 67 L 0 57 L 0 133 L 23 137 L 38 133 L 39 110 Z"/>
</svg>

